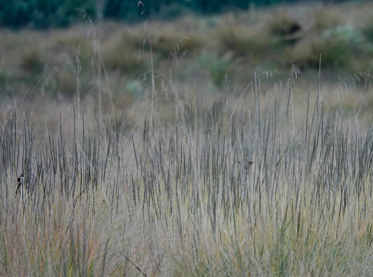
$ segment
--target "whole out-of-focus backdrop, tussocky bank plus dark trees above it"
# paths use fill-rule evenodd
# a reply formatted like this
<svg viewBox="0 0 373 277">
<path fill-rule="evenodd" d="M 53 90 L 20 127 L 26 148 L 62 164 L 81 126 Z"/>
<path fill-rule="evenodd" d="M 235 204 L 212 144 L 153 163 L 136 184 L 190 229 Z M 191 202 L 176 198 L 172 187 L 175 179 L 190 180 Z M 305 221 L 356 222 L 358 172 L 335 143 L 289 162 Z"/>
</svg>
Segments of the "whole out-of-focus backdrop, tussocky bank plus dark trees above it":
<svg viewBox="0 0 373 277">
<path fill-rule="evenodd" d="M 371 72 L 372 10 L 336 0 L 0 0 L 0 101 L 110 92 L 123 105 L 154 89 L 188 95 L 197 83 L 242 92 L 254 74 L 286 82 L 293 66 L 307 91 L 320 53 L 332 86 Z"/>
</svg>

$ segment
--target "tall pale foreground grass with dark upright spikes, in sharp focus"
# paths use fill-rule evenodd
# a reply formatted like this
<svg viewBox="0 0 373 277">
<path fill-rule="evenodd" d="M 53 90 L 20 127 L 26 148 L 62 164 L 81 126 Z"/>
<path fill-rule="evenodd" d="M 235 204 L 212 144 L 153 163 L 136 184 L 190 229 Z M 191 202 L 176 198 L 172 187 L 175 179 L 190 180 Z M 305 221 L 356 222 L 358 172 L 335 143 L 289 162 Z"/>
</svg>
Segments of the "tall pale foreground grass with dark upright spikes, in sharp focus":
<svg viewBox="0 0 373 277">
<path fill-rule="evenodd" d="M 294 118 L 291 81 L 263 98 L 256 80 L 175 103 L 176 125 L 154 99 L 131 134 L 72 105 L 57 128 L 9 110 L 1 276 L 372 274 L 372 122 L 317 91 Z"/>
</svg>

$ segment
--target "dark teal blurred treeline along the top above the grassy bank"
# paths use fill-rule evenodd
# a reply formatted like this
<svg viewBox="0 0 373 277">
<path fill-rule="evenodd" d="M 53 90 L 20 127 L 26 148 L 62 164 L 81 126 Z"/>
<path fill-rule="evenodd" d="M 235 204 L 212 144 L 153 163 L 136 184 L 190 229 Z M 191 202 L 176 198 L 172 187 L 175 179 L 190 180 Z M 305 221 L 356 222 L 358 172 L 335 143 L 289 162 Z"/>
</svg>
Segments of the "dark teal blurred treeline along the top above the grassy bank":
<svg viewBox="0 0 373 277">
<path fill-rule="evenodd" d="M 0 0 L 0 27 L 35 28 L 64 27 L 85 15 L 96 19 L 137 22 L 159 18 L 173 19 L 185 13 L 206 15 L 228 9 L 294 3 L 301 0 Z M 304 0 L 303 0 L 304 1 Z M 338 2 L 341 0 L 334 0 Z M 327 2 L 330 2 L 327 1 Z"/>
</svg>

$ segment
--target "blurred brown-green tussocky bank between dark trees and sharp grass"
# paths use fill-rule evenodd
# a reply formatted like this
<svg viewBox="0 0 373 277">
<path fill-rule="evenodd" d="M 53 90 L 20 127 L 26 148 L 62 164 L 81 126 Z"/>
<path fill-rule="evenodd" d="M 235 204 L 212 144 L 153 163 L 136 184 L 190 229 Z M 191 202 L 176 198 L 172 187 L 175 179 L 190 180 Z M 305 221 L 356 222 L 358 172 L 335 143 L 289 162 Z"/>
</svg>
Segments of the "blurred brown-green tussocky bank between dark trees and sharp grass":
<svg viewBox="0 0 373 277">
<path fill-rule="evenodd" d="M 152 73 L 156 86 L 198 80 L 211 92 L 224 83 L 242 90 L 254 72 L 273 70 L 273 80 L 283 80 L 293 65 L 317 79 L 320 53 L 324 80 L 333 83 L 370 70 L 372 10 L 372 2 L 297 4 L 131 26 L 88 20 L 48 31 L 2 29 L 0 97 L 69 98 L 77 86 L 82 97 L 110 86 L 131 98 L 151 87 Z"/>
</svg>

